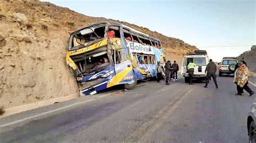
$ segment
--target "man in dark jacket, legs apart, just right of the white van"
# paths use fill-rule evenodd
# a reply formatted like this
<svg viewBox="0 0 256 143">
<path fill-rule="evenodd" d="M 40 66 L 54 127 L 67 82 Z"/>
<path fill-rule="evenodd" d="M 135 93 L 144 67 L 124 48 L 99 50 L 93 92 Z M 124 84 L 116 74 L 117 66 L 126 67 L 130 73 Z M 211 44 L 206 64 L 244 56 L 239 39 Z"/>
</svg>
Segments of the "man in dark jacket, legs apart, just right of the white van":
<svg viewBox="0 0 256 143">
<path fill-rule="evenodd" d="M 213 78 L 213 81 L 214 81 L 214 83 L 215 83 L 215 86 L 216 86 L 216 88 L 218 88 L 218 84 L 217 84 L 217 81 L 216 81 L 216 75 L 215 75 L 215 73 L 216 73 L 216 71 L 217 71 L 217 66 L 215 65 L 215 63 L 212 61 L 212 59 L 210 59 L 210 62 L 207 64 L 207 66 L 206 66 L 206 69 L 205 69 L 205 73 L 206 73 L 206 71 L 207 71 L 207 76 L 206 76 L 206 84 L 205 84 L 205 88 L 207 88 L 207 85 L 208 85 L 208 83 L 209 83 L 209 78 Z"/>
</svg>

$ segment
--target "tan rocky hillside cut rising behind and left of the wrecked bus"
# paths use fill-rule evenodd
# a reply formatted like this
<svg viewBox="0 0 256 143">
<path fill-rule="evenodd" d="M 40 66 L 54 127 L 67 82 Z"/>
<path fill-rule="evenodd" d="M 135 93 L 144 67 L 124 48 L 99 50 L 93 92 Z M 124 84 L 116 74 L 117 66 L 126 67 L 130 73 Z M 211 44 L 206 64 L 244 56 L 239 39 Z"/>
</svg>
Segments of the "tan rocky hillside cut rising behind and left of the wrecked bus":
<svg viewBox="0 0 256 143">
<path fill-rule="evenodd" d="M 47 2 L 2 0 L 0 4 L 0 106 L 5 108 L 77 94 L 65 65 L 69 34 L 105 20 Z M 113 20 L 114 21 L 114 20 Z M 147 28 L 122 22 L 163 43 L 166 58 L 181 61 L 196 47 Z"/>
</svg>

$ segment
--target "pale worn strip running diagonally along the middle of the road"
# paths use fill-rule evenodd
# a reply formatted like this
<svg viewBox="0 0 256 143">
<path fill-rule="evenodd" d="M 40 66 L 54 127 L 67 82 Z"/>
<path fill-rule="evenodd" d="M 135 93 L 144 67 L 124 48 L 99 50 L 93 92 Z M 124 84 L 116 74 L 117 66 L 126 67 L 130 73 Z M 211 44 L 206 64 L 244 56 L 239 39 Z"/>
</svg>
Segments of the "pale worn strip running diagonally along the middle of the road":
<svg viewBox="0 0 256 143">
<path fill-rule="evenodd" d="M 129 137 L 126 138 L 126 141 L 147 142 L 152 134 L 164 123 L 164 120 L 171 116 L 172 112 L 193 89 L 194 86 L 186 88 L 173 102 L 167 104 L 165 108 L 161 109 L 154 117 L 150 118 L 150 120 L 146 121 L 130 134 Z"/>
</svg>

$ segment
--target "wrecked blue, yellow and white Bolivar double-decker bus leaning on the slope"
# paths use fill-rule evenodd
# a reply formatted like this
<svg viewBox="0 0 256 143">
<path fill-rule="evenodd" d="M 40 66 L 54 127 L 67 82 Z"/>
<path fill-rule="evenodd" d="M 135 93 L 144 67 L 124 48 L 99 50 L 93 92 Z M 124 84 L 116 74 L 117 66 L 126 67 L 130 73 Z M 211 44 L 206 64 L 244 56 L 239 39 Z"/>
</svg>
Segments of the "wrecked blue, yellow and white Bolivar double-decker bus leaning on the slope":
<svg viewBox="0 0 256 143">
<path fill-rule="evenodd" d="M 70 34 L 66 63 L 76 77 L 80 95 L 156 76 L 163 62 L 160 40 L 116 22 L 99 22 Z"/>
</svg>

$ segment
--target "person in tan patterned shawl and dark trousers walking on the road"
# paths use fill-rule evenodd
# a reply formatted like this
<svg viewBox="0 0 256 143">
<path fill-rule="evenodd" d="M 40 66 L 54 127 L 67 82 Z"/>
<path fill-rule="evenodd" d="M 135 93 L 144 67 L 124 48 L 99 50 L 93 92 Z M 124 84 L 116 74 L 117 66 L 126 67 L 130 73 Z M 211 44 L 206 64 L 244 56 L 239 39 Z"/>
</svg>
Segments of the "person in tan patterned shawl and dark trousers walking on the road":
<svg viewBox="0 0 256 143">
<path fill-rule="evenodd" d="M 248 87 L 248 76 L 251 76 L 251 72 L 248 70 L 245 64 L 242 64 L 234 73 L 234 83 L 237 84 L 238 93 L 235 95 L 242 95 L 242 90 L 246 90 L 252 96 L 254 92 Z"/>
</svg>

